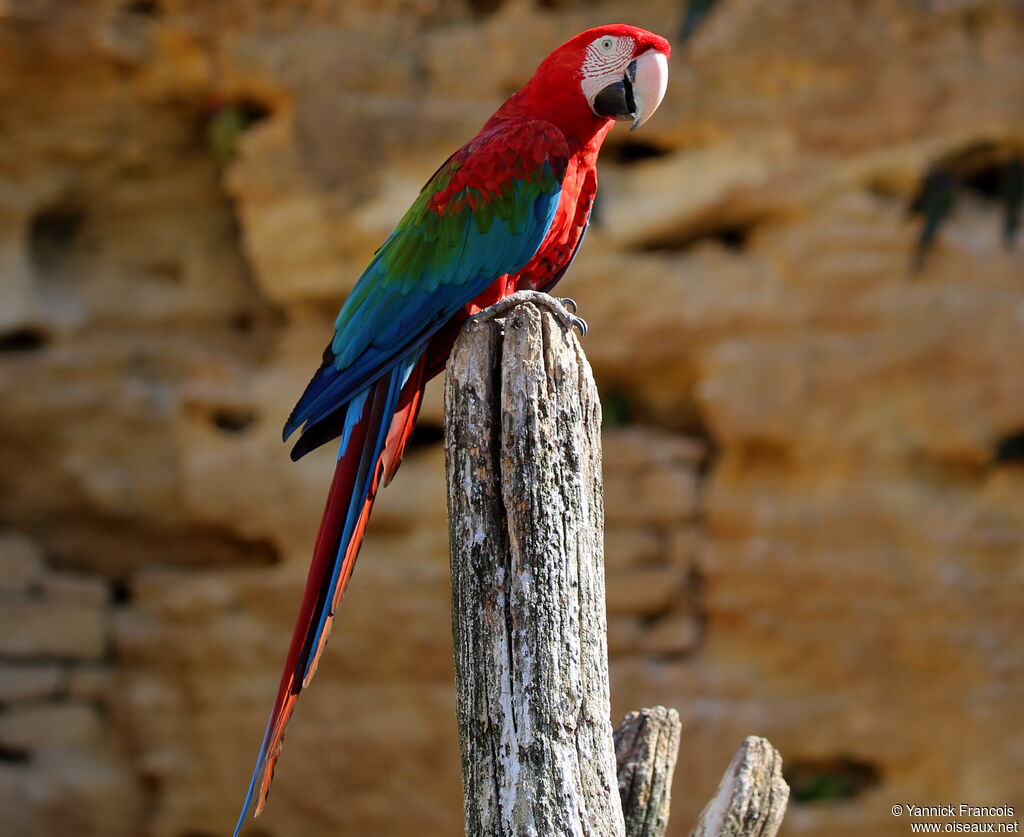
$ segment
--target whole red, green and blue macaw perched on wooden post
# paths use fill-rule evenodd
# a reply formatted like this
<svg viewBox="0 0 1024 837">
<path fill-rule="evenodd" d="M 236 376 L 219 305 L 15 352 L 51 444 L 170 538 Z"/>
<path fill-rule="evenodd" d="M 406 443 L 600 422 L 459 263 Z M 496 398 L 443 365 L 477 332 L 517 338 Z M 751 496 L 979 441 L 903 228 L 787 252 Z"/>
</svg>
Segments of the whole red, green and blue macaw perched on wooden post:
<svg viewBox="0 0 1024 837">
<path fill-rule="evenodd" d="M 500 316 L 521 294 L 585 330 L 571 300 L 540 292 L 580 248 L 612 125 L 637 128 L 662 102 L 670 49 L 665 38 L 625 25 L 558 47 L 437 169 L 342 305 L 323 363 L 285 424 L 286 440 L 301 427 L 292 459 L 341 442 L 236 837 L 254 796 L 256 814 L 263 808 L 285 726 L 316 669 L 377 490 L 394 476 L 424 385 L 444 368 L 459 331 L 470 319 Z"/>
</svg>

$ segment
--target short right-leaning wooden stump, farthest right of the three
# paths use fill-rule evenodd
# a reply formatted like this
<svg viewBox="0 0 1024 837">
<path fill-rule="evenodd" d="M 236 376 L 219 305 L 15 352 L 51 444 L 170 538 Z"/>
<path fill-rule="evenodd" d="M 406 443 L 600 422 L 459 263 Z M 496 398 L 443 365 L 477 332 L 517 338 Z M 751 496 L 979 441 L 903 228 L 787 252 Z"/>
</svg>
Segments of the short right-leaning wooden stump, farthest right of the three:
<svg viewBox="0 0 1024 837">
<path fill-rule="evenodd" d="M 788 799 L 782 757 L 767 739 L 748 736 L 690 837 L 774 837 Z"/>
</svg>

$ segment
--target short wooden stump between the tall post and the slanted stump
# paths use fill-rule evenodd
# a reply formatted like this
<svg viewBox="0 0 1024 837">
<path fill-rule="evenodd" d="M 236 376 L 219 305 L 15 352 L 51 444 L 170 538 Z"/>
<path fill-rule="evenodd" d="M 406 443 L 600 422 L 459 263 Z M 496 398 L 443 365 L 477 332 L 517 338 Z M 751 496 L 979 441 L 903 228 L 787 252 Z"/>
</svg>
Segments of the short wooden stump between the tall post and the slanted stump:
<svg viewBox="0 0 1024 837">
<path fill-rule="evenodd" d="M 679 713 L 664 706 L 630 712 L 615 729 L 626 837 L 665 834 L 680 730 Z"/>
</svg>

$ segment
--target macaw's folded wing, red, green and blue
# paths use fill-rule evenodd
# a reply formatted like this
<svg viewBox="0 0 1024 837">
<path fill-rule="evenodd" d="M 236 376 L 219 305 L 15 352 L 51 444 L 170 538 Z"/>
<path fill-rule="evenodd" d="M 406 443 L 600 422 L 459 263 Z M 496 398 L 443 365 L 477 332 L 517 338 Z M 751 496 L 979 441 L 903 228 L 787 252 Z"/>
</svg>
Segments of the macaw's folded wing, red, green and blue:
<svg viewBox="0 0 1024 837">
<path fill-rule="evenodd" d="M 558 207 L 567 157 L 551 123 L 505 122 L 437 170 L 345 300 L 324 363 L 285 425 L 285 438 L 303 425 L 293 459 L 338 435 L 349 399 L 532 258 Z"/>
</svg>

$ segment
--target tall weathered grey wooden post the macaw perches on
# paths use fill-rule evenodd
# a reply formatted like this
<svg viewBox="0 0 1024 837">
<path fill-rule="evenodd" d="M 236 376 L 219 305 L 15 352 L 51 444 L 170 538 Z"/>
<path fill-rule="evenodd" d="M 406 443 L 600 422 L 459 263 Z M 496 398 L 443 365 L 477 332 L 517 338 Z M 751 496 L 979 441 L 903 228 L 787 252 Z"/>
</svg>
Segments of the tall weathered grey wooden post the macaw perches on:
<svg viewBox="0 0 1024 837">
<path fill-rule="evenodd" d="M 445 463 L 473 837 L 625 835 L 609 721 L 600 425 L 579 340 L 550 313 L 522 304 L 460 337 Z"/>
</svg>

